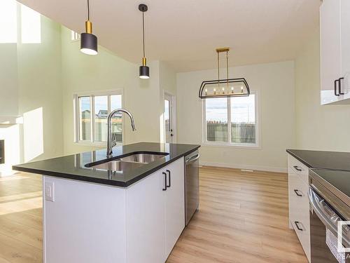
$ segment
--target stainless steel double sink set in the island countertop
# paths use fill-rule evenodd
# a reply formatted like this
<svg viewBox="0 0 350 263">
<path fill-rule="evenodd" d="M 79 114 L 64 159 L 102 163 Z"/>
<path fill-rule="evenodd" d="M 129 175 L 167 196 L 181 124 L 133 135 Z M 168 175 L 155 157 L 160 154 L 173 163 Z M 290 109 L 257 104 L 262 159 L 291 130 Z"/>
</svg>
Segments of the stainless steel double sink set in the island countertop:
<svg viewBox="0 0 350 263">
<path fill-rule="evenodd" d="M 164 158 L 165 153 L 136 153 L 131 154 L 125 157 L 122 157 L 117 160 L 107 161 L 106 163 L 100 163 L 95 166 L 91 166 L 91 163 L 88 163 L 86 166 L 89 168 L 94 168 L 98 170 L 111 170 L 113 172 L 123 172 L 125 170 L 132 170 L 144 166 L 147 163 L 152 163 L 158 159 Z"/>
</svg>

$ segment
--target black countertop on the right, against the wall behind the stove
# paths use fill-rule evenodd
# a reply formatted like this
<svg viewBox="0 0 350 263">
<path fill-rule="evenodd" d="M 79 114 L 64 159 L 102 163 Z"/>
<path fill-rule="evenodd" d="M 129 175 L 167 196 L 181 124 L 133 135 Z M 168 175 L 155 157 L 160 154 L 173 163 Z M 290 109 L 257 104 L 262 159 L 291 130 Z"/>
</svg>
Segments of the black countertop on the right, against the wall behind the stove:
<svg viewBox="0 0 350 263">
<path fill-rule="evenodd" d="M 309 168 L 350 171 L 350 153 L 348 152 L 296 149 L 287 149 L 287 152 Z"/>
</svg>

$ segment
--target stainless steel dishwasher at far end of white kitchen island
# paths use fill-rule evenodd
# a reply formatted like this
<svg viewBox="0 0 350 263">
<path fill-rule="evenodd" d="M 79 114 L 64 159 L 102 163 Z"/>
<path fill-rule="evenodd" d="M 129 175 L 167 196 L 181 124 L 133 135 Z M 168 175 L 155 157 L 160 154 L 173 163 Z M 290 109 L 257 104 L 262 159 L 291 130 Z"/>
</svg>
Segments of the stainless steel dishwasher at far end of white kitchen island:
<svg viewBox="0 0 350 263">
<path fill-rule="evenodd" d="M 185 217 L 186 226 L 200 204 L 200 154 L 193 151 L 185 157 Z"/>
</svg>

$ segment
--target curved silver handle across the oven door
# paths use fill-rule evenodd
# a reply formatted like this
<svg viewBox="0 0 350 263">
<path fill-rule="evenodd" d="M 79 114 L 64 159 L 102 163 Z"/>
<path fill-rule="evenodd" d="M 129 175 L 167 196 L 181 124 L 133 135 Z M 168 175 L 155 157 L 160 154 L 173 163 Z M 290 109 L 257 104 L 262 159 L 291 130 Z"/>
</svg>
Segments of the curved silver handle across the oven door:
<svg viewBox="0 0 350 263">
<path fill-rule="evenodd" d="M 330 229 L 330 231 L 337 236 L 337 222 L 341 221 L 340 217 L 338 217 L 332 208 L 330 208 L 330 206 L 311 188 L 309 188 L 309 201 L 312 210 L 314 210 L 318 218 L 325 224 L 325 227 Z"/>
</svg>

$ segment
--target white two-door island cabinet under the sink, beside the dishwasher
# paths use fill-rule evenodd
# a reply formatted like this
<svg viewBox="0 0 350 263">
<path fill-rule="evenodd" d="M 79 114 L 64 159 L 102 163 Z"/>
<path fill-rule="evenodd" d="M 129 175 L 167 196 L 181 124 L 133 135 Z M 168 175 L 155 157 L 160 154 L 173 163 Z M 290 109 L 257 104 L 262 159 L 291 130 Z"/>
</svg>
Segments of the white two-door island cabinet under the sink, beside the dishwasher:
<svg viewBox="0 0 350 263">
<path fill-rule="evenodd" d="M 127 262 L 165 262 L 185 228 L 183 158 L 127 191 Z"/>
</svg>

